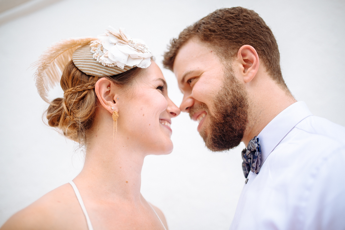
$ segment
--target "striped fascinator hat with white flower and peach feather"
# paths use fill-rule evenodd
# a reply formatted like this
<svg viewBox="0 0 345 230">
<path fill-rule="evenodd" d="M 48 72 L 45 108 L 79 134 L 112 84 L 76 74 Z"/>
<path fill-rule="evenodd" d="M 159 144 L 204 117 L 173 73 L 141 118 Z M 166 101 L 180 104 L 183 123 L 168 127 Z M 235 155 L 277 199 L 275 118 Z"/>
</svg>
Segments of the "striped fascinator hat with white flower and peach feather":
<svg viewBox="0 0 345 230">
<path fill-rule="evenodd" d="M 91 76 L 104 77 L 134 67 L 147 68 L 151 51 L 145 42 L 132 39 L 124 29 L 109 27 L 97 38 L 83 37 L 61 40 L 53 44 L 33 63 L 34 77 L 41 98 L 50 103 L 48 91 L 60 81 L 63 68 L 72 60 L 75 66 Z"/>
</svg>

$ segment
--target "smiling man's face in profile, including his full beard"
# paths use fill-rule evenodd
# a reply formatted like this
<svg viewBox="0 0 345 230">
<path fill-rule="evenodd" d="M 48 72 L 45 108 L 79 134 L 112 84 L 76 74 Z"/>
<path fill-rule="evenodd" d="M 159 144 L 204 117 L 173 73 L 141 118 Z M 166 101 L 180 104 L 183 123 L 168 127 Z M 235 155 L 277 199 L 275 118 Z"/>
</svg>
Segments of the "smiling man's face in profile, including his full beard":
<svg viewBox="0 0 345 230">
<path fill-rule="evenodd" d="M 247 125 L 246 90 L 215 50 L 196 39 L 179 50 L 173 69 L 184 94 L 181 111 L 198 121 L 206 147 L 221 151 L 238 146 Z"/>
</svg>

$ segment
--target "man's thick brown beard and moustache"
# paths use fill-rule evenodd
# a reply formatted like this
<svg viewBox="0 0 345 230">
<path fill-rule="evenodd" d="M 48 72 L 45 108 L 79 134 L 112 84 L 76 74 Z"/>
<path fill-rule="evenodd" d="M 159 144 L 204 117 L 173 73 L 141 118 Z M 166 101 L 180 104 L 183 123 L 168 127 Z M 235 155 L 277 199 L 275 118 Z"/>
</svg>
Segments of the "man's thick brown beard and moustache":
<svg viewBox="0 0 345 230">
<path fill-rule="evenodd" d="M 211 151 L 223 151 L 238 146 L 248 123 L 247 92 L 231 70 L 225 74 L 227 76 L 223 88 L 214 98 L 214 115 L 210 114 L 205 103 L 189 109 L 189 116 L 200 110 L 207 112 L 209 127 L 202 129 L 200 136 Z"/>
</svg>

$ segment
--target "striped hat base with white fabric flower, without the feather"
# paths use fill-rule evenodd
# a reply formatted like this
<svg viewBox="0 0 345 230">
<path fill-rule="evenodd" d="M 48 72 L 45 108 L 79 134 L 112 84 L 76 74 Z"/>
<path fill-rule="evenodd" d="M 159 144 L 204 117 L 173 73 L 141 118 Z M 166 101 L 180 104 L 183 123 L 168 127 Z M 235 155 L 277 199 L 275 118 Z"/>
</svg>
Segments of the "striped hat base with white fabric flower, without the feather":
<svg viewBox="0 0 345 230">
<path fill-rule="evenodd" d="M 99 40 L 73 53 L 72 60 L 78 69 L 101 77 L 119 74 L 135 66 L 150 66 L 152 54 L 144 41 L 130 38 L 124 29 L 109 29 L 97 36 Z"/>
</svg>

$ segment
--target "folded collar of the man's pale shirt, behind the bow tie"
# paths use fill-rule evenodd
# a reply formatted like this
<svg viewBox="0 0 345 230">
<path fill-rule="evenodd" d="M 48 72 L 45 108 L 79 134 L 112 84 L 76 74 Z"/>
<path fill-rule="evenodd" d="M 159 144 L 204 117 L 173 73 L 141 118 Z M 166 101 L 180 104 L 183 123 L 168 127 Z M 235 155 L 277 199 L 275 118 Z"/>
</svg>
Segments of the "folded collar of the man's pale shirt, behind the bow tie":
<svg viewBox="0 0 345 230">
<path fill-rule="evenodd" d="M 312 115 L 306 103 L 298 101 L 273 118 L 257 136 L 261 147 L 261 165 L 279 142 L 283 140 L 300 121 Z"/>
</svg>

